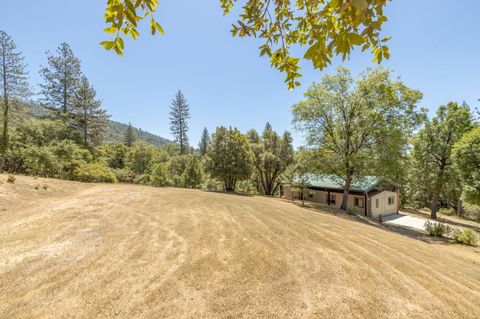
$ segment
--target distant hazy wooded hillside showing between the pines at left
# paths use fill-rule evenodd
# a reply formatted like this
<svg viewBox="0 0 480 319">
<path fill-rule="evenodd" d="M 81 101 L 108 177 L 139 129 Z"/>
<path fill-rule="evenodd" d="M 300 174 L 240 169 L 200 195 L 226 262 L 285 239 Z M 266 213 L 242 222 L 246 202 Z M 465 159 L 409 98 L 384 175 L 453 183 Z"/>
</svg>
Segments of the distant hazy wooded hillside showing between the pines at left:
<svg viewBox="0 0 480 319">
<path fill-rule="evenodd" d="M 27 107 L 30 109 L 30 111 L 34 116 L 44 117 L 47 115 L 45 108 L 38 103 L 30 102 L 28 103 Z M 127 131 L 127 127 L 128 127 L 128 124 L 109 120 L 108 126 L 107 126 L 107 132 L 105 134 L 105 141 L 106 142 L 123 141 L 125 132 Z M 168 143 L 172 143 L 166 138 L 152 134 L 150 132 L 140 130 L 134 126 L 132 127 L 135 130 L 135 134 L 137 135 L 138 140 L 146 141 L 156 146 L 162 146 Z"/>
</svg>

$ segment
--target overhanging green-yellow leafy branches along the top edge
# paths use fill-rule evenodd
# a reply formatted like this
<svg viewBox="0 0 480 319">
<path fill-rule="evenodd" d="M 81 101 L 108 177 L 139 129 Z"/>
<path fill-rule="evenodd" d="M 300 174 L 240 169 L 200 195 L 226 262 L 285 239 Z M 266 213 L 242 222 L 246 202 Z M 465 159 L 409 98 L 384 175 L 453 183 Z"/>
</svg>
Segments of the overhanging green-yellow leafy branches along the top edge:
<svg viewBox="0 0 480 319">
<path fill-rule="evenodd" d="M 268 56 L 270 64 L 286 74 L 289 89 L 300 85 L 300 58 L 292 54 L 295 46 L 305 47 L 303 59 L 323 69 L 335 56 L 343 60 L 354 47 L 370 50 L 374 61 L 389 58 L 385 43 L 390 37 L 380 35 L 387 21 L 383 13 L 388 0 L 220 0 L 225 15 L 235 6 L 241 7 L 238 20 L 232 25 L 233 36 L 262 40 L 260 56 Z M 158 0 L 107 0 L 105 32 L 113 40 L 101 44 L 122 55 L 123 37 L 136 39 L 138 23 L 148 19 L 152 35 L 164 34 L 155 20 Z"/>
</svg>

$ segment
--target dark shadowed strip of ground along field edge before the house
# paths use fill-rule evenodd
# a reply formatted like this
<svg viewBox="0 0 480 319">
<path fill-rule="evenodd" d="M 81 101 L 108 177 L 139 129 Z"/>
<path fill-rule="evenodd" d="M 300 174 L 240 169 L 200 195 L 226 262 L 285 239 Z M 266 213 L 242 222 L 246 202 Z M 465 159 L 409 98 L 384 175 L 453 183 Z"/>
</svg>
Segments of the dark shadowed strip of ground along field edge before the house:
<svg viewBox="0 0 480 319">
<path fill-rule="evenodd" d="M 286 200 L 288 201 L 288 200 Z M 366 224 L 372 227 L 376 227 L 379 229 L 387 230 L 390 232 L 397 233 L 402 236 L 406 236 L 409 238 L 413 238 L 416 240 L 420 240 L 422 242 L 428 243 L 428 244 L 441 244 L 441 245 L 453 245 L 456 244 L 452 239 L 450 238 L 444 238 L 444 237 L 433 237 L 428 235 L 426 232 L 406 227 L 406 226 L 400 226 L 400 225 L 392 225 L 392 224 L 386 224 L 386 223 L 380 223 L 377 220 L 371 219 L 369 217 L 364 217 L 360 215 L 350 215 L 347 214 L 345 211 L 328 206 L 326 204 L 320 204 L 320 203 L 314 203 L 310 201 L 305 201 L 305 205 L 302 204 L 301 201 L 288 201 L 293 203 L 294 205 L 302 208 L 309 209 L 310 211 L 314 211 L 316 213 L 323 213 L 323 214 L 329 214 L 329 215 L 334 215 L 339 218 L 343 219 L 348 219 L 354 222 Z"/>
</svg>

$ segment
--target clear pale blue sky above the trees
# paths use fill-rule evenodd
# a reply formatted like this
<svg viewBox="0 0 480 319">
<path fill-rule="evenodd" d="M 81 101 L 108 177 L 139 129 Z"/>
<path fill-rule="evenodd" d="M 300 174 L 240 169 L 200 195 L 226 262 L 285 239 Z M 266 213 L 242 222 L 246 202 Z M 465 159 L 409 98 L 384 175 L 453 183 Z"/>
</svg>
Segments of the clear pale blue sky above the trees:
<svg viewBox="0 0 480 319">
<path fill-rule="evenodd" d="M 45 51 L 68 42 L 112 119 L 163 137 L 171 138 L 169 105 L 181 89 L 190 104 L 193 145 L 205 126 L 210 132 L 218 125 L 261 131 L 269 121 L 278 131 L 293 131 L 290 108 L 309 83 L 338 65 L 354 74 L 372 65 L 372 56 L 361 52 L 324 71 L 304 63 L 303 86 L 288 91 L 283 74 L 259 58 L 260 42 L 231 37 L 232 17 L 222 15 L 218 0 L 161 0 L 158 20 L 166 35 L 152 38 L 144 29 L 120 58 L 98 45 L 108 38 L 105 3 L 0 0 L 0 30 L 23 51 L 32 85 L 41 81 Z M 387 7 L 391 58 L 383 65 L 424 93 L 420 106 L 431 114 L 450 100 L 480 104 L 479 12 L 478 0 L 394 0 Z M 301 145 L 302 135 L 293 133 Z"/>
</svg>

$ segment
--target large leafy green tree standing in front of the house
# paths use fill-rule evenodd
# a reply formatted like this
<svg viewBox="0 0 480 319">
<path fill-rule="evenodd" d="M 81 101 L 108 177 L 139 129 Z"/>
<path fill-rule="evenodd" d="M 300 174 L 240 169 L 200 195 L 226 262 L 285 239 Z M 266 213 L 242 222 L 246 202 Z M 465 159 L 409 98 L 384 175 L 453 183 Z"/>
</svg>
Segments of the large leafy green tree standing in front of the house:
<svg viewBox="0 0 480 319">
<path fill-rule="evenodd" d="M 388 70 L 369 70 L 355 82 L 350 71 L 339 68 L 312 84 L 292 114 L 315 153 L 316 170 L 337 176 L 348 191 L 355 176 L 396 177 L 396 164 L 423 117 L 417 110 L 421 97 L 392 80 Z"/>
</svg>

